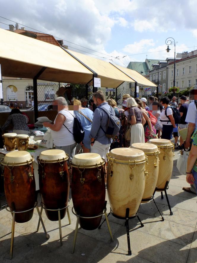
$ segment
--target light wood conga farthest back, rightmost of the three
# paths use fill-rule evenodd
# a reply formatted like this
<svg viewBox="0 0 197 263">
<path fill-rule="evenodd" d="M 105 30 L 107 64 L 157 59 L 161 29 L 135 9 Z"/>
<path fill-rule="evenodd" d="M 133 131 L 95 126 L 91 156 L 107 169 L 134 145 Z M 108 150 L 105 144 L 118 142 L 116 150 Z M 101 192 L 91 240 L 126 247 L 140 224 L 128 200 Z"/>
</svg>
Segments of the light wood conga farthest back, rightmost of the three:
<svg viewBox="0 0 197 263">
<path fill-rule="evenodd" d="M 149 143 L 155 144 L 161 151 L 159 155 L 157 190 L 164 189 L 166 182 L 170 181 L 172 175 L 174 144 L 166 139 L 150 139 Z"/>
</svg>

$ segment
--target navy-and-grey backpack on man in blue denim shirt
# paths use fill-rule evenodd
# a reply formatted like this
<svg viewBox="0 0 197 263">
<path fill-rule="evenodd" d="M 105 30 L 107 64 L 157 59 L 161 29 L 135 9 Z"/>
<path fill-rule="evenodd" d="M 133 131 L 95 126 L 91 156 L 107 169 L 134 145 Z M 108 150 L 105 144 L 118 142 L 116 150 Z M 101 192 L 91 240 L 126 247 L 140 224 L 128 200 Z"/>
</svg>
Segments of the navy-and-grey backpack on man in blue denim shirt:
<svg viewBox="0 0 197 263">
<path fill-rule="evenodd" d="M 101 129 L 103 130 L 103 132 L 105 133 L 105 135 L 108 138 L 114 138 L 117 133 L 120 130 L 120 120 L 115 116 L 115 112 L 114 109 L 112 108 L 112 106 L 110 106 L 111 108 L 111 113 L 109 113 L 104 107 L 99 107 L 101 108 L 105 113 L 107 113 L 107 115 L 109 116 L 109 120 L 107 123 L 107 129 L 106 131 L 104 131 L 104 129 L 101 127 Z"/>
</svg>

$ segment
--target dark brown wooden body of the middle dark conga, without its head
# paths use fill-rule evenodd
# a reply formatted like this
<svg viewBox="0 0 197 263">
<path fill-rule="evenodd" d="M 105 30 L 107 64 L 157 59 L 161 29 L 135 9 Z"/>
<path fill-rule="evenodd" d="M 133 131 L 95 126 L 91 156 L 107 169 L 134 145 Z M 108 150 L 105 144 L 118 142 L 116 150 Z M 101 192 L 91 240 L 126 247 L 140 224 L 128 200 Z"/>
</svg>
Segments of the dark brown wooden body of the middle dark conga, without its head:
<svg viewBox="0 0 197 263">
<path fill-rule="evenodd" d="M 64 161 L 61 162 L 63 164 Z M 43 163 L 42 163 L 43 165 Z M 61 165 L 57 163 L 45 163 L 44 173 L 42 177 L 42 166 L 39 164 L 39 188 L 42 203 L 47 209 L 60 209 L 68 205 L 69 198 L 69 171 L 67 161 L 63 164 L 63 176 Z M 60 210 L 61 219 L 66 215 L 66 209 Z M 47 218 L 51 221 L 58 221 L 58 211 L 45 210 Z"/>
</svg>

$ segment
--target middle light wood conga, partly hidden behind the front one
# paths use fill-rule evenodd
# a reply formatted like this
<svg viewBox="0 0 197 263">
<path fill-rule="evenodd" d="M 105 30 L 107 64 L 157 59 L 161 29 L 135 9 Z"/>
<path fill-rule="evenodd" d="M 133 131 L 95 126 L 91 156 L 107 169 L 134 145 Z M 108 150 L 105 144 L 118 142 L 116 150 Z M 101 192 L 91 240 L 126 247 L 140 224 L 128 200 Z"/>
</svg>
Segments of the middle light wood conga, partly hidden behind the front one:
<svg viewBox="0 0 197 263">
<path fill-rule="evenodd" d="M 160 150 L 156 145 L 150 143 L 133 143 L 130 148 L 142 150 L 148 158 L 148 162 L 145 163 L 147 176 L 142 199 L 150 199 L 157 186 Z"/>
</svg>

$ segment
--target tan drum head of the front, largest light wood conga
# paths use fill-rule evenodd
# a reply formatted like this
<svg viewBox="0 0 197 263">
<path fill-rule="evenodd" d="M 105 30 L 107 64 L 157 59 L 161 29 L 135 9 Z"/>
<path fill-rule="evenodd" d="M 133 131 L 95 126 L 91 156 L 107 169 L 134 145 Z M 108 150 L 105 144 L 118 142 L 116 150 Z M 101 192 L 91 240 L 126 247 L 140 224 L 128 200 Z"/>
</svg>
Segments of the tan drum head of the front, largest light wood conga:
<svg viewBox="0 0 197 263">
<path fill-rule="evenodd" d="M 122 161 L 139 161 L 145 158 L 144 152 L 132 148 L 116 148 L 109 152 L 109 157 Z"/>
</svg>

